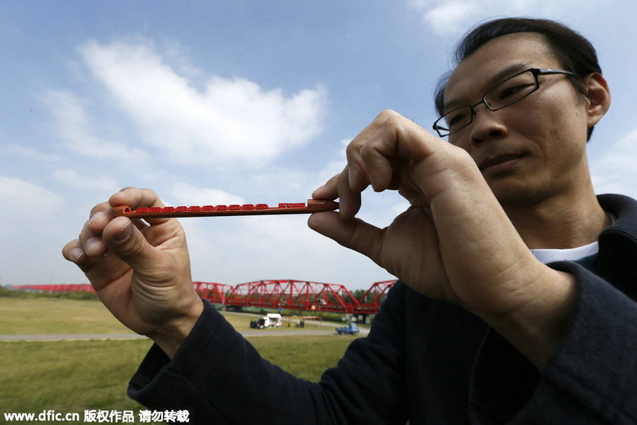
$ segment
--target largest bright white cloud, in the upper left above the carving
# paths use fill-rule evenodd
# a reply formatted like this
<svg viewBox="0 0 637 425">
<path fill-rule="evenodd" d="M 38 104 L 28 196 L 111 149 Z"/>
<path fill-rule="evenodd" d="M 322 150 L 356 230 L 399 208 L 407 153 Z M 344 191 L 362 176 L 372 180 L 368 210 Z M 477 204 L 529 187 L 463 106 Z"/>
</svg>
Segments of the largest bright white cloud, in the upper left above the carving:
<svg viewBox="0 0 637 425">
<path fill-rule="evenodd" d="M 150 42 L 87 42 L 81 56 L 139 128 L 144 142 L 183 164 L 258 166 L 321 131 L 321 87 L 285 96 L 247 79 L 207 77 L 202 91 L 171 45 L 162 57 Z M 174 67 L 166 62 L 179 62 Z M 190 69 L 184 72 L 183 69 Z M 184 77 L 178 73 L 187 74 Z"/>
</svg>

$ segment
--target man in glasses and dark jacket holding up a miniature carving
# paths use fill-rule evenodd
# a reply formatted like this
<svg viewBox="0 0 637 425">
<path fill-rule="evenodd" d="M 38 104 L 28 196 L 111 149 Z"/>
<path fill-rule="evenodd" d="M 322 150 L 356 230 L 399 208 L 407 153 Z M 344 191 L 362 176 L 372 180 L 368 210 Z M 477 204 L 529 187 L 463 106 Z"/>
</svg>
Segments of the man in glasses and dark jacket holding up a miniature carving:
<svg viewBox="0 0 637 425">
<path fill-rule="evenodd" d="M 156 342 L 132 397 L 211 424 L 637 422 L 637 203 L 590 183 L 585 145 L 610 104 L 595 51 L 551 21 L 505 19 L 459 52 L 437 96 L 449 142 L 384 111 L 314 192 L 340 211 L 309 226 L 402 282 L 319 384 L 263 361 L 198 299 L 176 220 L 113 218 L 161 205 L 154 193 L 93 208 L 64 256 Z M 411 207 L 385 229 L 358 220 L 370 185 Z"/>
</svg>

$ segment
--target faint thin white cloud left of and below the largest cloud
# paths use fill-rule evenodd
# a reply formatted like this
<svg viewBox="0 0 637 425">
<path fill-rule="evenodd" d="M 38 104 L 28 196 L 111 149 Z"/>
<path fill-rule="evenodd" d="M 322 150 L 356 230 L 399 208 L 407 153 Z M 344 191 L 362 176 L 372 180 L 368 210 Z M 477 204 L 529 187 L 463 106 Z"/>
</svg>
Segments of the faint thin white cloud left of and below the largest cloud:
<svg viewBox="0 0 637 425">
<path fill-rule="evenodd" d="M 69 91 L 48 90 L 42 94 L 42 101 L 49 108 L 54 127 L 64 141 L 64 147 L 76 154 L 98 159 L 145 159 L 146 154 L 139 149 L 102 140 L 88 119 L 81 99 Z"/>
</svg>

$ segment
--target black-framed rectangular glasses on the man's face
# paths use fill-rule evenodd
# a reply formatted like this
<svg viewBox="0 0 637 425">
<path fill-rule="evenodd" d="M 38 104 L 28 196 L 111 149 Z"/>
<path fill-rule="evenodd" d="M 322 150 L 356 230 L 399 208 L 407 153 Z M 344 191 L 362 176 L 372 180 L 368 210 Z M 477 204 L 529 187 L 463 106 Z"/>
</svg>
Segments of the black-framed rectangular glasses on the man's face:
<svg viewBox="0 0 637 425">
<path fill-rule="evenodd" d="M 493 87 L 493 89 L 490 89 L 478 103 L 461 106 L 460 108 L 445 113 L 435 121 L 433 128 L 438 132 L 440 137 L 452 135 L 454 132 L 462 130 L 473 122 L 474 115 L 476 115 L 476 106 L 484 103 L 490 111 L 498 111 L 499 109 L 506 108 L 517 101 L 521 101 L 539 89 L 538 76 L 549 74 L 575 75 L 573 72 L 563 71 L 561 69 L 526 69 L 505 79 L 505 81 L 502 81 Z"/>
</svg>

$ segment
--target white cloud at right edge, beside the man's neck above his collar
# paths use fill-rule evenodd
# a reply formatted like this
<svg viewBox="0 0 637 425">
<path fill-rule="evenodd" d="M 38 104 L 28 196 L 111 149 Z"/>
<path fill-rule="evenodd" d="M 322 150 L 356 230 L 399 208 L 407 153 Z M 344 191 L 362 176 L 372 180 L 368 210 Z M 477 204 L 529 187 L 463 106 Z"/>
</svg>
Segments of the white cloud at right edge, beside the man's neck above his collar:
<svg viewBox="0 0 637 425">
<path fill-rule="evenodd" d="M 616 142 L 608 154 L 591 162 L 596 193 L 621 193 L 637 198 L 637 129 Z"/>
</svg>

